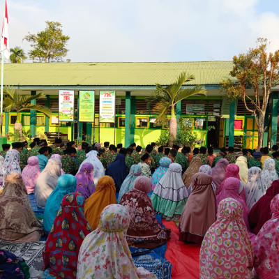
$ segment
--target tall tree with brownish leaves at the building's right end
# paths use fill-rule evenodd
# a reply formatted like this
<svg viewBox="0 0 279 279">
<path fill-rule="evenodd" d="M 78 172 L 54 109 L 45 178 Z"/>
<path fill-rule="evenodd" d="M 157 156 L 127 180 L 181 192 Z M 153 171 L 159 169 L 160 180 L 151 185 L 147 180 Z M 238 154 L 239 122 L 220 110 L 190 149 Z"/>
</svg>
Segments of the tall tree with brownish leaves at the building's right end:
<svg viewBox="0 0 279 279">
<path fill-rule="evenodd" d="M 258 126 L 258 150 L 262 147 L 267 128 L 264 127 L 264 118 L 271 88 L 279 83 L 279 50 L 268 54 L 266 47 L 267 40 L 258 38 L 257 47 L 250 48 L 246 54 L 234 56 L 234 66 L 229 73 L 234 80 L 220 82 L 230 100 L 241 98 L 246 110 L 254 115 Z M 254 96 L 248 96 L 247 89 L 253 89 Z M 253 109 L 248 107 L 248 103 Z"/>
</svg>

